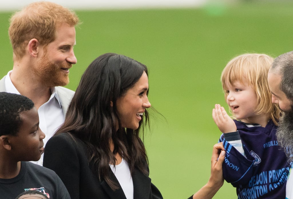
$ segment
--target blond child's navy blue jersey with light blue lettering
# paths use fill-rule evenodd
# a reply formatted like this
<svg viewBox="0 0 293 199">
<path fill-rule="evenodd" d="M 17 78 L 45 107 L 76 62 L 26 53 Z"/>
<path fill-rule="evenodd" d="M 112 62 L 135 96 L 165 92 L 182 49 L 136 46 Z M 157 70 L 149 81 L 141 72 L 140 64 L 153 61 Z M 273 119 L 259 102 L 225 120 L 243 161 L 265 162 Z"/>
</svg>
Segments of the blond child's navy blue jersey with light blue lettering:
<svg viewBox="0 0 293 199">
<path fill-rule="evenodd" d="M 238 198 L 285 198 L 290 169 L 285 152 L 278 146 L 277 126 L 270 120 L 266 127 L 247 127 L 234 120 L 243 144 L 243 156 L 224 139 L 226 150 L 223 163 L 224 179 L 236 187 Z"/>
</svg>

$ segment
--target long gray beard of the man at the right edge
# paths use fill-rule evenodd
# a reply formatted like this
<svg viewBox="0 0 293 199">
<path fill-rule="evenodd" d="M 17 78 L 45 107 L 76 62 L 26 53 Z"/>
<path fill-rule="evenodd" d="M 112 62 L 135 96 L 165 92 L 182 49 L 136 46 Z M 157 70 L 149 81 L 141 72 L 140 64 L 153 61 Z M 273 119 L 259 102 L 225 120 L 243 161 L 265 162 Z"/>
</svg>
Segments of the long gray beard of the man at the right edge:
<svg viewBox="0 0 293 199">
<path fill-rule="evenodd" d="M 293 161 L 293 112 L 285 112 L 282 115 L 276 137 L 279 146 L 286 153 L 288 162 Z"/>
</svg>

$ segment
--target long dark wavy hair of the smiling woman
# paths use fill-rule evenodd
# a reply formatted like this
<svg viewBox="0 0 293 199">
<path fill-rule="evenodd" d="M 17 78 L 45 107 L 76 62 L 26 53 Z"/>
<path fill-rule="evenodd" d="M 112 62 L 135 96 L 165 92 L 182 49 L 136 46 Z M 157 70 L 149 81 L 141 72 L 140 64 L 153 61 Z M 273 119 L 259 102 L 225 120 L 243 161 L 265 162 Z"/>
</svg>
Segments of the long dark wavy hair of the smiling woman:
<svg viewBox="0 0 293 199">
<path fill-rule="evenodd" d="M 103 177 L 113 190 L 118 186 L 109 177 L 109 163 L 115 163 L 117 153 L 128 162 L 131 173 L 137 167 L 145 175 L 149 174 L 146 150 L 139 137 L 140 127 L 149 126 L 148 112 L 145 110 L 138 129 L 125 129 L 121 127 L 116 107 L 117 99 L 134 86 L 143 72 L 148 75 L 145 65 L 124 55 L 106 53 L 96 58 L 82 75 L 65 122 L 56 132 L 70 132 L 86 144 L 93 172 L 100 179 Z"/>
</svg>

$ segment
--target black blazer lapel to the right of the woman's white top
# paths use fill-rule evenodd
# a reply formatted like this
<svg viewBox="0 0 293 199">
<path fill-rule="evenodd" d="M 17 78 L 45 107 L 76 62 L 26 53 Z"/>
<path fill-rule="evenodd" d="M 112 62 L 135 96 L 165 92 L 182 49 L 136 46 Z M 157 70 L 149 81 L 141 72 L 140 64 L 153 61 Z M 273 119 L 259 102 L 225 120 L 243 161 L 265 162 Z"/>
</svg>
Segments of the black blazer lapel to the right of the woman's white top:
<svg viewBox="0 0 293 199">
<path fill-rule="evenodd" d="M 133 181 L 133 197 L 139 199 L 149 199 L 149 194 L 151 192 L 151 178 L 145 176 L 137 168 L 134 169 L 132 174 Z"/>
</svg>

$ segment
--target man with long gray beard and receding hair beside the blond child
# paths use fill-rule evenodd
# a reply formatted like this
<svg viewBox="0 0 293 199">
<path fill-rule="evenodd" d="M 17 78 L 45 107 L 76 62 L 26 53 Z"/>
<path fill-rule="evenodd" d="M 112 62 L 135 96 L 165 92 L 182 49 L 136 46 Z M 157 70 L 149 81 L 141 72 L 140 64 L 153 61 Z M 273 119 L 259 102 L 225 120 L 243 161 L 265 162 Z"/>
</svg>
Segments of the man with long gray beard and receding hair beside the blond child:
<svg viewBox="0 0 293 199">
<path fill-rule="evenodd" d="M 284 148 L 288 161 L 293 162 L 293 51 L 275 58 L 268 72 L 268 83 L 272 102 L 279 104 L 283 111 L 276 134 L 277 141 Z M 289 173 L 286 199 L 292 198 L 293 174 Z"/>
</svg>

